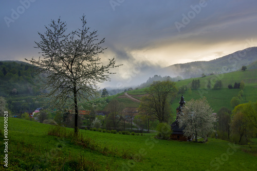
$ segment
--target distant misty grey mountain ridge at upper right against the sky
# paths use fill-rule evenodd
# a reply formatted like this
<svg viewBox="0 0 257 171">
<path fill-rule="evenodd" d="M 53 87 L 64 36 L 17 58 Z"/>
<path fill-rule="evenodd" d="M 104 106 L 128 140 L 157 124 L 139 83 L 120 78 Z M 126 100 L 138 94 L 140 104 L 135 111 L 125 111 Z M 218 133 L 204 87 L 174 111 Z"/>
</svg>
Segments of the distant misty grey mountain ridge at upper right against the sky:
<svg viewBox="0 0 257 171">
<path fill-rule="evenodd" d="M 228 73 L 240 70 L 257 60 L 257 47 L 236 51 L 232 54 L 210 61 L 194 61 L 175 64 L 157 71 L 158 75 L 171 77 L 181 76 L 183 79 L 200 77 L 202 74 Z"/>
</svg>

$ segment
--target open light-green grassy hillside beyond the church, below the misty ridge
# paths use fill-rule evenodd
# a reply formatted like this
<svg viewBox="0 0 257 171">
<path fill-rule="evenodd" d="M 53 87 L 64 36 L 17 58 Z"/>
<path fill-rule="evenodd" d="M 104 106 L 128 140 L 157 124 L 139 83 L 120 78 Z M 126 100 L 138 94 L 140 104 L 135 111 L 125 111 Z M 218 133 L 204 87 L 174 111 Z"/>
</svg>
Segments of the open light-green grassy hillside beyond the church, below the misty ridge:
<svg viewBox="0 0 257 171">
<path fill-rule="evenodd" d="M 187 86 L 188 88 L 191 87 L 191 83 L 193 79 L 200 80 L 200 89 L 192 91 L 186 91 L 183 96 L 185 97 L 186 101 L 189 101 L 191 98 L 198 99 L 203 96 L 206 96 L 207 100 L 209 101 L 212 109 L 214 112 L 218 112 L 223 106 L 231 109 L 230 101 L 233 96 L 236 96 L 240 89 L 228 89 L 228 84 L 234 85 L 234 82 L 241 82 L 242 80 L 245 82 L 245 89 L 243 94 L 243 102 L 248 101 L 256 101 L 257 100 L 257 69 L 251 69 L 246 71 L 235 71 L 231 73 L 225 74 L 216 74 L 216 75 L 209 75 L 206 77 L 199 77 L 199 78 L 190 78 L 176 82 L 177 88 L 180 86 Z M 211 81 L 212 88 L 207 89 L 208 81 Z M 213 90 L 213 86 L 216 80 L 222 80 L 222 89 L 220 90 Z M 127 94 L 131 95 L 134 98 L 140 99 L 142 95 L 146 92 L 144 89 L 128 91 Z M 175 111 L 177 108 L 178 101 L 180 100 L 180 94 L 178 94 L 177 98 L 173 100 L 172 109 Z M 133 100 L 128 99 L 124 96 L 124 93 L 121 93 L 116 96 L 116 98 L 125 104 L 125 106 L 139 106 L 139 102 L 133 102 Z M 232 110 L 232 109 L 231 109 Z"/>
</svg>

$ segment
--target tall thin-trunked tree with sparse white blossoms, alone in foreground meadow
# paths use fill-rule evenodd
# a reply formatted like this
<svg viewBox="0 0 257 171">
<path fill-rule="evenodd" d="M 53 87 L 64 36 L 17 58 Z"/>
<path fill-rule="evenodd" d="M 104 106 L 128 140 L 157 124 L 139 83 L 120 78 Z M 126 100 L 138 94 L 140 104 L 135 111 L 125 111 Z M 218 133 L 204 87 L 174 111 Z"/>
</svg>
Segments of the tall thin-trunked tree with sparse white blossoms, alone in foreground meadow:
<svg viewBox="0 0 257 171">
<path fill-rule="evenodd" d="M 103 65 L 98 54 L 105 48 L 100 47 L 104 39 L 98 40 L 97 31 L 89 31 L 86 19 L 81 18 L 82 28 L 66 34 L 67 25 L 60 18 L 51 20 L 44 34 L 39 33 L 41 41 L 35 42 L 41 50 L 43 59 L 26 59 L 38 66 L 35 71 L 47 73 L 43 81 L 43 90 L 49 93 L 43 97 L 50 98 L 55 108 L 69 103 L 75 109 L 75 134 L 78 133 L 78 103 L 89 101 L 98 95 L 98 82 L 109 80 L 110 68 L 115 65 L 114 58 Z"/>
</svg>

